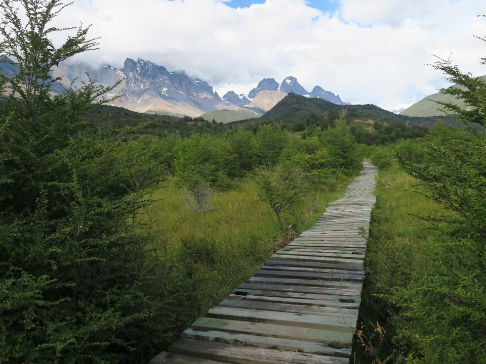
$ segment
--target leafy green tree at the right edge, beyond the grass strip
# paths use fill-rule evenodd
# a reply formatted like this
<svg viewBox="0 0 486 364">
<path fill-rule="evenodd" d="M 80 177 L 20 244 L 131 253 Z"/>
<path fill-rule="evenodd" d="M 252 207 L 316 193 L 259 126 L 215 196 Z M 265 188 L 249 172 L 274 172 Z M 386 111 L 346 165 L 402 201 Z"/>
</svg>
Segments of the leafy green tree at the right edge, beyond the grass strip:
<svg viewBox="0 0 486 364">
<path fill-rule="evenodd" d="M 416 348 L 409 362 L 477 362 L 486 357 L 486 138 L 477 130 L 477 124 L 486 126 L 486 81 L 450 60 L 438 59 L 433 67 L 454 84 L 442 92 L 467 108 L 439 103 L 463 128 L 435 125 L 424 138 L 420 163 L 410 153 L 398 154 L 423 194 L 445 212 L 424 217 L 436 226 L 440 253 L 391 297 L 400 309 L 397 341 Z"/>
</svg>

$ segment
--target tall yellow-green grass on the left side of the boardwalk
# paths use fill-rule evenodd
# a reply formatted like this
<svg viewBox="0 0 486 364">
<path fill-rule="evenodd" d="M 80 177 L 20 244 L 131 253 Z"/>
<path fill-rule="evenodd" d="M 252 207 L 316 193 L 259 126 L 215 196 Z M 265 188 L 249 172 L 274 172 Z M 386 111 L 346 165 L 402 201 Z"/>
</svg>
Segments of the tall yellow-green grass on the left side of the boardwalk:
<svg viewBox="0 0 486 364">
<path fill-rule="evenodd" d="M 257 185 L 246 177 L 237 186 L 231 191 L 215 191 L 210 201 L 212 209 L 202 213 L 187 205 L 177 180 L 168 178 L 151 196 L 155 202 L 142 215 L 152 222 L 151 229 L 157 237 L 151 248 L 171 267 L 170 274 L 177 284 L 175 287 L 167 280 L 161 289 L 167 290 L 168 295 L 177 290 L 185 300 L 175 300 L 174 307 L 170 303 L 167 307 L 166 330 L 176 327 L 173 339 L 191 320 L 204 315 L 253 276 L 278 249 L 276 242 L 282 238 L 282 231 L 269 205 L 260 201 Z M 303 230 L 312 225 L 345 187 L 319 191 L 309 197 L 296 226 Z M 177 325 L 169 324 L 180 315 L 181 304 L 185 306 L 184 317 L 178 319 Z"/>
</svg>

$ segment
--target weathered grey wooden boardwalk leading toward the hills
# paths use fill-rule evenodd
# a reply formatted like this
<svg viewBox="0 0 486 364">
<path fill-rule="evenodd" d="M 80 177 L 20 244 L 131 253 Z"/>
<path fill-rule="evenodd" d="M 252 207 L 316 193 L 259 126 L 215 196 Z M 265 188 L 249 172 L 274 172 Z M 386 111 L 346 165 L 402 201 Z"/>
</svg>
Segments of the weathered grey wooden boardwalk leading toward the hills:
<svg viewBox="0 0 486 364">
<path fill-rule="evenodd" d="M 150 364 L 349 363 L 376 168 Z"/>
</svg>

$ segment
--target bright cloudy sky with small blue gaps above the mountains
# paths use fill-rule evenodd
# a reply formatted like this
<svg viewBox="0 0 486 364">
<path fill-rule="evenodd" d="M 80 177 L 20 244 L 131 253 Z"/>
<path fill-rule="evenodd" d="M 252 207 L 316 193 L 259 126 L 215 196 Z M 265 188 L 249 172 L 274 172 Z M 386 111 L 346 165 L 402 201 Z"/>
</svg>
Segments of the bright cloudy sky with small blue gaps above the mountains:
<svg viewBox="0 0 486 364">
<path fill-rule="evenodd" d="M 430 64 L 449 58 L 486 74 L 484 0 L 74 0 L 57 21 L 92 24 L 100 50 L 83 61 L 126 58 L 185 70 L 220 96 L 263 78 L 294 76 L 353 104 L 408 107 L 447 83 Z"/>
</svg>

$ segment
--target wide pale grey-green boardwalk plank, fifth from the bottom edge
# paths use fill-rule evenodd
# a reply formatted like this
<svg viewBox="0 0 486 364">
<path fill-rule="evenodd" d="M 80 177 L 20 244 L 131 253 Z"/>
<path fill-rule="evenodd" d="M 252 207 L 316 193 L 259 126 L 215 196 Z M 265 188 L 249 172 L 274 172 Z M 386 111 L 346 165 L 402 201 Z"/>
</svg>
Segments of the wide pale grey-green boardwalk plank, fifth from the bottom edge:
<svg viewBox="0 0 486 364">
<path fill-rule="evenodd" d="M 292 312 L 264 311 L 235 307 L 214 307 L 208 311 L 209 317 L 216 319 L 299 326 L 322 330 L 354 333 L 355 315 L 321 316 Z"/>
</svg>

